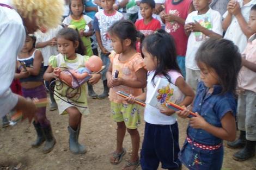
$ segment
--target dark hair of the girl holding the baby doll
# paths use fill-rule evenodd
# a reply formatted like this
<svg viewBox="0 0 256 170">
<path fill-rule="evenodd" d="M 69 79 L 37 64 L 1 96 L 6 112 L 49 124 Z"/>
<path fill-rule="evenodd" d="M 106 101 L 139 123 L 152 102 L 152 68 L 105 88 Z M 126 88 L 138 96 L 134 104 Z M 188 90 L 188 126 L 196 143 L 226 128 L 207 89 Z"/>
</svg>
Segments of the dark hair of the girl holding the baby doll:
<svg viewBox="0 0 256 170">
<path fill-rule="evenodd" d="M 83 41 L 81 40 L 81 37 L 78 33 L 77 29 L 73 29 L 73 28 L 62 28 L 59 30 L 56 39 L 58 39 L 58 37 L 63 37 L 66 40 L 72 41 L 75 45 L 76 41 L 79 42 L 78 47 L 76 48 L 76 53 L 81 54 L 81 55 L 85 55 L 84 51 L 85 48 L 83 46 Z"/>
</svg>

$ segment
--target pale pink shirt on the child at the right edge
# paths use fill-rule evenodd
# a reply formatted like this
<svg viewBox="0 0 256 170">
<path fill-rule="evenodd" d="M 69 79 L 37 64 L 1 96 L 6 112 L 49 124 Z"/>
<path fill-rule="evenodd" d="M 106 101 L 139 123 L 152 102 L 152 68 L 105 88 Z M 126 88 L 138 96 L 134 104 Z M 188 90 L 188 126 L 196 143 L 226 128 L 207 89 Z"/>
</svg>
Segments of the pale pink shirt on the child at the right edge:
<svg viewBox="0 0 256 170">
<path fill-rule="evenodd" d="M 245 51 L 245 59 L 256 64 L 256 34 L 253 34 L 249 39 Z M 249 68 L 242 66 L 239 72 L 239 87 L 241 90 L 250 90 L 256 92 L 256 73 Z"/>
</svg>

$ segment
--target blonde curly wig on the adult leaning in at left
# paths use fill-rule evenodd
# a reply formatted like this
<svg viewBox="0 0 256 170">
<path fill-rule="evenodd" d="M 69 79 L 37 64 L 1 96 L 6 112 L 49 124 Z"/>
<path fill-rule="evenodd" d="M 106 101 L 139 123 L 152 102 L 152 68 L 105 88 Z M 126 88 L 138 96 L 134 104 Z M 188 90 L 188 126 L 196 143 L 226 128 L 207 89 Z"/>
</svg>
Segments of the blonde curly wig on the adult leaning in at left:
<svg viewBox="0 0 256 170">
<path fill-rule="evenodd" d="M 36 25 L 45 29 L 56 28 L 61 24 L 64 1 L 63 0 L 13 0 L 19 14 L 32 21 L 36 16 Z"/>
</svg>

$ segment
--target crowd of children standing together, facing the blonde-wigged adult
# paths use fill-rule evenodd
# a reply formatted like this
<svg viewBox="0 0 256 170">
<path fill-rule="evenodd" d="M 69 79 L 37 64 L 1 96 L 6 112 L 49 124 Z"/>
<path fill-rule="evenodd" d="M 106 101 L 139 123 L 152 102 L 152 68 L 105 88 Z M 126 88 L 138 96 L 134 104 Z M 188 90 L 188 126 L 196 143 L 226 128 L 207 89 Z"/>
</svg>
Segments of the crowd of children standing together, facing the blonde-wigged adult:
<svg viewBox="0 0 256 170">
<path fill-rule="evenodd" d="M 69 115 L 72 154 L 87 152 L 78 142 L 82 115 L 89 114 L 87 94 L 97 99 L 108 97 L 109 115 L 117 123 L 116 149 L 109 162 L 121 162 L 126 153 L 126 129 L 131 136 L 132 154 L 123 170 L 134 170 L 139 165 L 142 169 L 157 169 L 160 162 L 164 169 L 181 169 L 182 164 L 188 169 L 221 169 L 223 140 L 228 141 L 228 148 L 243 147 L 233 155 L 234 160 L 255 156 L 256 0 L 231 0 L 223 16 L 210 7 L 210 0 L 135 2 L 139 5 L 139 20 L 133 23 L 123 15 L 127 4 L 124 0 L 100 0 L 99 11 L 93 1 L 65 1 L 69 14 L 63 18 L 64 28 L 26 35 L 14 76 L 20 80 L 22 95 L 46 98 L 47 87 L 50 110 Z M 106 67 L 100 73 L 89 74 L 87 85 L 80 85 L 74 92 L 59 80 L 60 72 L 86 67 L 84 63 L 98 55 L 97 46 Z M 97 95 L 93 85 L 100 79 L 103 93 Z M 158 109 L 148 104 L 159 79 L 176 85 L 184 94 L 179 103 L 184 110 Z M 51 83 L 54 80 L 56 83 Z M 119 91 L 129 97 L 118 96 Z M 137 99 L 146 103 L 141 154 L 137 130 L 142 122 L 141 106 Z M 32 147 L 46 141 L 42 152 L 51 152 L 56 139 L 46 106 L 35 114 L 37 137 Z M 182 147 L 177 116 L 190 117 Z M 3 125 L 7 122 L 4 117 Z M 236 129 L 240 130 L 237 140 Z"/>
</svg>

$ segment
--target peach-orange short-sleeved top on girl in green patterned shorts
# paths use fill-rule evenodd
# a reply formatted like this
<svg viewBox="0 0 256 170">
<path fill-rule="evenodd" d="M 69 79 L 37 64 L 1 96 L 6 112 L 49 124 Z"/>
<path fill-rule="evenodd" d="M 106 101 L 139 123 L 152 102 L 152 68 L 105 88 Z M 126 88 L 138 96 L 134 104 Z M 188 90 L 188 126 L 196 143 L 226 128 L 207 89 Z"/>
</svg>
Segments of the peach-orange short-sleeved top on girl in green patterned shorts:
<svg viewBox="0 0 256 170">
<path fill-rule="evenodd" d="M 111 54 L 109 55 L 109 58 L 110 58 L 110 61 L 112 62 L 113 76 L 115 71 L 118 70 L 119 71 L 118 77 L 121 77 L 129 81 L 136 81 L 137 76 L 135 72 L 138 71 L 140 68 L 144 68 L 145 66 L 143 58 L 139 53 L 133 55 L 130 59 L 126 61 L 119 61 L 119 54 L 115 52 L 111 52 Z M 120 86 L 115 86 L 109 90 L 109 96 L 108 96 L 109 100 L 115 103 L 125 103 L 124 102 L 125 98 L 117 95 L 118 91 L 124 92 L 126 94 L 132 94 L 133 96 L 138 96 L 142 94 L 142 89 L 135 89 L 132 87 L 120 85 Z"/>
</svg>

